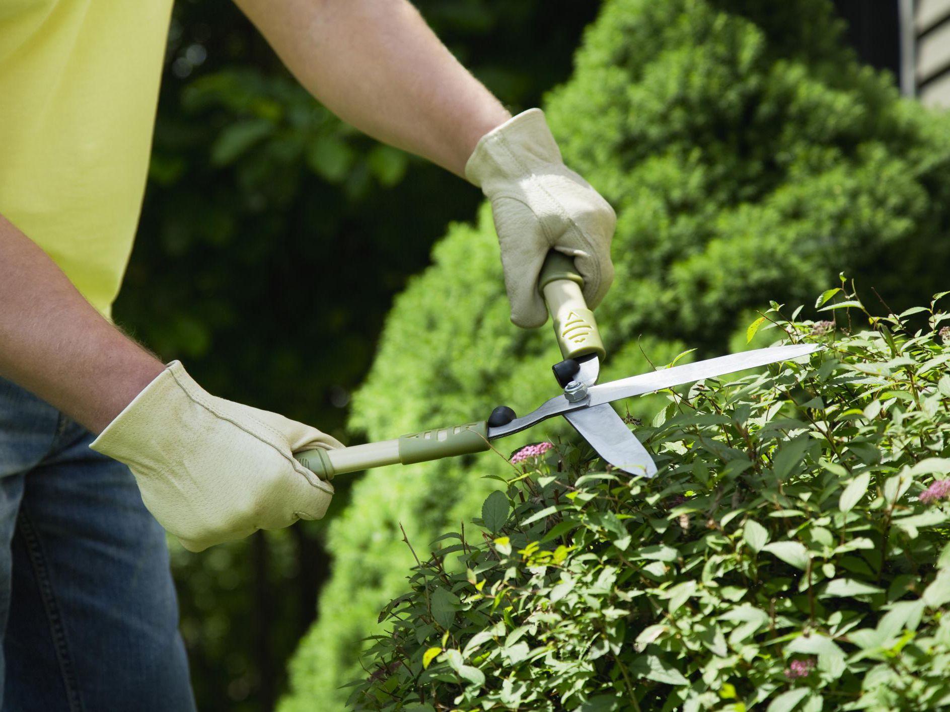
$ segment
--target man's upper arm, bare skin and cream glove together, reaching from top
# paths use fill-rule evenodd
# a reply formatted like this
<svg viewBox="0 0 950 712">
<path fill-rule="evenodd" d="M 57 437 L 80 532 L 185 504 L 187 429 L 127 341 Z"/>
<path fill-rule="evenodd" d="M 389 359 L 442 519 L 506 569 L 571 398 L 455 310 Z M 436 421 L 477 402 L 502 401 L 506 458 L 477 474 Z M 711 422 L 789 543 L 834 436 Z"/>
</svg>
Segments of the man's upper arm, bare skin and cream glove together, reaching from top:
<svg viewBox="0 0 950 712">
<path fill-rule="evenodd" d="M 296 78 L 346 122 L 479 186 L 491 201 L 511 321 L 540 327 L 550 250 L 574 258 L 591 309 L 614 278 L 616 215 L 561 160 L 540 109 L 511 118 L 409 0 L 236 0 Z"/>
</svg>

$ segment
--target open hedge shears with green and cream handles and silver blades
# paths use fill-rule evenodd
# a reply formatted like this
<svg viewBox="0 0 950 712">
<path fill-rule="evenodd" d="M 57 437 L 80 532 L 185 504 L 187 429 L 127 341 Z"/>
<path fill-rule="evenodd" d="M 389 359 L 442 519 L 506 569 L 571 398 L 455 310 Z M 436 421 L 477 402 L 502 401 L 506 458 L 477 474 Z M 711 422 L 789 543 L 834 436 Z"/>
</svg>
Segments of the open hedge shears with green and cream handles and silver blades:
<svg viewBox="0 0 950 712">
<path fill-rule="evenodd" d="M 656 475 L 653 458 L 611 403 L 747 368 L 788 361 L 820 348 L 814 344 L 758 348 L 599 384 L 600 362 L 606 351 L 594 313 L 584 302 L 582 287 L 583 279 L 575 269 L 574 261 L 561 253 L 548 253 L 539 289 L 551 312 L 563 356 L 561 362 L 552 366 L 561 393 L 527 415 L 519 418 L 511 408 L 500 405 L 485 421 L 424 430 L 394 440 L 336 450 L 306 450 L 294 457 L 318 477 L 329 479 L 334 475 L 383 465 L 409 465 L 484 452 L 491 448 L 492 440 L 514 435 L 548 418 L 563 416 L 601 459 L 631 475 L 652 478 Z"/>
</svg>

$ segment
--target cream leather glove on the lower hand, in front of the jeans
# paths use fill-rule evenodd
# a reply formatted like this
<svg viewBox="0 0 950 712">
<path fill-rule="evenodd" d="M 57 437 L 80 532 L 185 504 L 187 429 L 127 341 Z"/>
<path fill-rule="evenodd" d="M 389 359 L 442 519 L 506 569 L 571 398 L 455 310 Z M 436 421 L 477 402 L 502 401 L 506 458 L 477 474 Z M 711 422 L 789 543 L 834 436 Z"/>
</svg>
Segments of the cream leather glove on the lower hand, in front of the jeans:
<svg viewBox="0 0 950 712">
<path fill-rule="evenodd" d="M 308 425 L 208 394 L 177 361 L 90 445 L 129 466 L 148 511 L 192 552 L 323 516 L 333 486 L 293 456 L 314 446 L 342 447 Z"/>
</svg>

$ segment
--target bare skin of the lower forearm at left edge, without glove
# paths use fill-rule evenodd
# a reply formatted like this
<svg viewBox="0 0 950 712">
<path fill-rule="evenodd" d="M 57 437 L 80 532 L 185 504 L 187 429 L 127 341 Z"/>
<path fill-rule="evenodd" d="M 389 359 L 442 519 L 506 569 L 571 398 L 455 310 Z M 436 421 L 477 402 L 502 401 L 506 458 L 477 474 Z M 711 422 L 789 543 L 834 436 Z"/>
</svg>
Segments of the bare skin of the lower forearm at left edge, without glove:
<svg viewBox="0 0 950 712">
<path fill-rule="evenodd" d="M 0 376 L 99 432 L 162 368 L 0 216 Z"/>
</svg>

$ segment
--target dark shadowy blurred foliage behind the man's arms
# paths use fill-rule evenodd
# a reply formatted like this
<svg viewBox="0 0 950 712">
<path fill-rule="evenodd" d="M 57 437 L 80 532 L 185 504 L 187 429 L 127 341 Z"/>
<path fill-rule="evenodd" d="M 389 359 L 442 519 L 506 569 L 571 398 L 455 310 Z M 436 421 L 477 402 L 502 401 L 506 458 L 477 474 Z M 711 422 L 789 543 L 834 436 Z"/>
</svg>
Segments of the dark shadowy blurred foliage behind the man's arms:
<svg viewBox="0 0 950 712">
<path fill-rule="evenodd" d="M 417 6 L 513 111 L 566 79 L 598 9 L 577 0 Z M 480 198 L 336 120 L 234 5 L 179 0 L 116 320 L 212 392 L 352 443 L 350 393 L 392 295 Z M 349 486 L 337 484 L 328 518 Z M 316 615 L 323 540 L 323 523 L 306 522 L 198 555 L 173 548 L 199 709 L 273 708 Z"/>
</svg>

